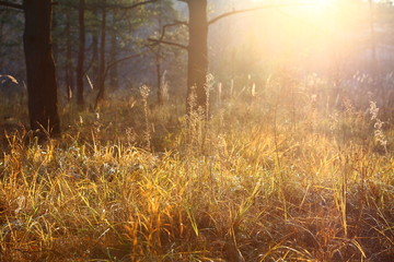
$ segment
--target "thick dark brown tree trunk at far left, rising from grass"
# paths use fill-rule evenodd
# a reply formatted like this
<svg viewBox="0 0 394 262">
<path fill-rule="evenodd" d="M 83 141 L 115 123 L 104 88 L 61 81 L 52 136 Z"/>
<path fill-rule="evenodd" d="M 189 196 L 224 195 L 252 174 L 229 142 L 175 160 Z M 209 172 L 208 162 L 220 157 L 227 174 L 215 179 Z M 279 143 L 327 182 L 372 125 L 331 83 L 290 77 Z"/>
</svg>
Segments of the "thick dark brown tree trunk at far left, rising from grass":
<svg viewBox="0 0 394 262">
<path fill-rule="evenodd" d="M 51 1 L 24 0 L 23 45 L 26 59 L 28 114 L 32 130 L 60 133 L 57 81 L 51 50 Z"/>
</svg>

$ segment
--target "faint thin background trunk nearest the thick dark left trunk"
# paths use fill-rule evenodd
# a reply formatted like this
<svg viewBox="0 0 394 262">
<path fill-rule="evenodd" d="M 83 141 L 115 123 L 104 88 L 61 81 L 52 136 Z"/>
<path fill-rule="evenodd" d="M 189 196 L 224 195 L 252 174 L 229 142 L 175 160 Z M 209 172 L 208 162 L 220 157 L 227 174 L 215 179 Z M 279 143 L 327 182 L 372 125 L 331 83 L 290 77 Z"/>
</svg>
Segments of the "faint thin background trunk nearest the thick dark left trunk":
<svg viewBox="0 0 394 262">
<path fill-rule="evenodd" d="M 70 11 L 66 14 L 66 91 L 67 98 L 71 100 L 73 93 L 73 78 L 72 78 L 72 50 L 71 50 L 71 15 Z"/>
</svg>

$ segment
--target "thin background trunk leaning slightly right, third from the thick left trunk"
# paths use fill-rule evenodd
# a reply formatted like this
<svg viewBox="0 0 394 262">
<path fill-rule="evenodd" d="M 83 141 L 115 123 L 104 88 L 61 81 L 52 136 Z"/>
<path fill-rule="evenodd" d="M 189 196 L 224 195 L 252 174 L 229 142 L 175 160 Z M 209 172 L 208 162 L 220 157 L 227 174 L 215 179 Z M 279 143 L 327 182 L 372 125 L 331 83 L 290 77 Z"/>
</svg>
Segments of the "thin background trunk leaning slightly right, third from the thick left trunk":
<svg viewBox="0 0 394 262">
<path fill-rule="evenodd" d="M 105 5 L 105 1 L 103 3 Z M 95 102 L 95 107 L 104 99 L 105 92 L 105 41 L 106 41 L 106 8 L 102 9 L 101 23 L 101 45 L 100 45 L 100 66 L 99 66 L 99 94 Z"/>
</svg>

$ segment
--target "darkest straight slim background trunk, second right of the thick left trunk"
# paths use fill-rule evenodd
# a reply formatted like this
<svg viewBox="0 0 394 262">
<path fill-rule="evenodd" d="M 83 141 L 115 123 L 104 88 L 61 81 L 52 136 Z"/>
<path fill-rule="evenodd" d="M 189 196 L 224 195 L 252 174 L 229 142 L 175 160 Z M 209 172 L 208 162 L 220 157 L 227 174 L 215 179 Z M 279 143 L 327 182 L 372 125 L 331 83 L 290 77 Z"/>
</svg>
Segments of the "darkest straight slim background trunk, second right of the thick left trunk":
<svg viewBox="0 0 394 262">
<path fill-rule="evenodd" d="M 85 26 L 84 26 L 85 0 L 79 2 L 79 50 L 77 64 L 77 104 L 80 109 L 84 106 L 83 99 L 83 63 L 84 63 L 84 46 L 85 46 Z"/>
</svg>

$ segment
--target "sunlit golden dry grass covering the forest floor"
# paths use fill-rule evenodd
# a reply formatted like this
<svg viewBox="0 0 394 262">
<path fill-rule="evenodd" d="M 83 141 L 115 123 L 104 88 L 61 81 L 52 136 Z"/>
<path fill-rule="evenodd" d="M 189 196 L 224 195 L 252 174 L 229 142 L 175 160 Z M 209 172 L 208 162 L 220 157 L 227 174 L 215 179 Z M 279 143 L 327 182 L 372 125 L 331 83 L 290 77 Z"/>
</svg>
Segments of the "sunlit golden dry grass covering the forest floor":
<svg viewBox="0 0 394 262">
<path fill-rule="evenodd" d="M 265 92 L 3 126 L 0 261 L 394 261 L 392 112 Z"/>
</svg>

